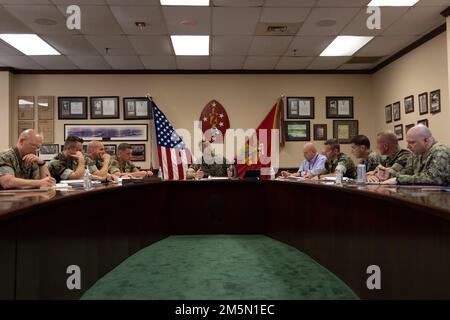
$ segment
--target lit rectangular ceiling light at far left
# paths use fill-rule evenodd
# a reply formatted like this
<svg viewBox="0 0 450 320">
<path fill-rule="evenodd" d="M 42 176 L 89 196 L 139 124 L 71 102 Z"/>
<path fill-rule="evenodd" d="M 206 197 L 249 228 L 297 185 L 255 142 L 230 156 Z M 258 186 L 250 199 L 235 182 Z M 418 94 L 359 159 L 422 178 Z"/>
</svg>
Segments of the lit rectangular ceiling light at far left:
<svg viewBox="0 0 450 320">
<path fill-rule="evenodd" d="M 7 42 L 27 56 L 55 56 L 60 55 L 47 42 L 35 34 L 0 34 L 0 39 Z"/>
</svg>

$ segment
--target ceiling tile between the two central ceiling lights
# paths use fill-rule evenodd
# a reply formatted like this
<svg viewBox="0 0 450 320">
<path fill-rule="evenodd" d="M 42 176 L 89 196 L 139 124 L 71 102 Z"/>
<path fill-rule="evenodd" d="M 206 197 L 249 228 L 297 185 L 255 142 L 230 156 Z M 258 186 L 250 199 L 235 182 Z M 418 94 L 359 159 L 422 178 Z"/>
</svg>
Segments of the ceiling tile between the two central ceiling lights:
<svg viewBox="0 0 450 320">
<path fill-rule="evenodd" d="M 163 6 L 162 10 L 170 34 L 208 35 L 211 33 L 210 7 Z"/>
</svg>

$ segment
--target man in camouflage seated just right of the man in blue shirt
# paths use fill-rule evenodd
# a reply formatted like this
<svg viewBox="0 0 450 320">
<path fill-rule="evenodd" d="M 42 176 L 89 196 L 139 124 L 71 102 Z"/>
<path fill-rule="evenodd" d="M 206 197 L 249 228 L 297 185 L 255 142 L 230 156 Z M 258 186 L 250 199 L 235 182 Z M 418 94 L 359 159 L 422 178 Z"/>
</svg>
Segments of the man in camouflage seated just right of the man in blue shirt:
<svg viewBox="0 0 450 320">
<path fill-rule="evenodd" d="M 340 169 L 344 177 L 355 179 L 356 167 L 352 159 L 349 156 L 341 152 L 341 146 L 336 139 L 330 139 L 325 141 L 325 156 L 327 161 L 325 162 L 325 174 L 321 174 L 318 178 L 334 177 L 336 176 L 336 169 Z"/>
</svg>

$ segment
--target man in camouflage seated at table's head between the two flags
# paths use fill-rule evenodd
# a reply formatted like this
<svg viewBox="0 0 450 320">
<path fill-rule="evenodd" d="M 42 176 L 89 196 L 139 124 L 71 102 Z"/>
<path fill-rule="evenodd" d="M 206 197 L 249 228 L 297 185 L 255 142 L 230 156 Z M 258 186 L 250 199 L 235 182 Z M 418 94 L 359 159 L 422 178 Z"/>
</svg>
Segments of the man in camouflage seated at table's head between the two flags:
<svg viewBox="0 0 450 320">
<path fill-rule="evenodd" d="M 229 161 L 221 155 L 216 155 L 209 141 L 202 141 L 202 163 L 193 164 L 186 172 L 186 179 L 201 179 L 208 177 L 233 177 L 235 172 Z"/>
</svg>

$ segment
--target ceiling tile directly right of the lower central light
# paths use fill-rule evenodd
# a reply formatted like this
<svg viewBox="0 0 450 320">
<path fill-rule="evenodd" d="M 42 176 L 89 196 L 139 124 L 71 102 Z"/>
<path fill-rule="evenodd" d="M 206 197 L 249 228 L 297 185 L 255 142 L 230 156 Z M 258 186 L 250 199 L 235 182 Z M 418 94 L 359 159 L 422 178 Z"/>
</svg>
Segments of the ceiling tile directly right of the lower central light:
<svg viewBox="0 0 450 320">
<path fill-rule="evenodd" d="M 252 36 L 214 36 L 212 38 L 212 54 L 218 56 L 247 55 L 252 41 Z"/>
</svg>

